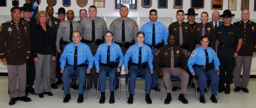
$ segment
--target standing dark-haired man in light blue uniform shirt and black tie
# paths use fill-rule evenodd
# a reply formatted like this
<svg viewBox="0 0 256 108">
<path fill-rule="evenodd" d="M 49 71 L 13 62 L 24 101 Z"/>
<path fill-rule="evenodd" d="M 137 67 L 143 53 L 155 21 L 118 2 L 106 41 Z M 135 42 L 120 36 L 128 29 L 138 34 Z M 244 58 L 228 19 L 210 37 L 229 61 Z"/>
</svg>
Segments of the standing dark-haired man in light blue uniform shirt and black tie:
<svg viewBox="0 0 256 108">
<path fill-rule="evenodd" d="M 150 22 L 144 24 L 140 31 L 145 33 L 144 43 L 151 48 L 153 59 L 155 57 L 157 49 L 166 45 L 168 38 L 168 29 L 161 22 L 157 22 L 157 11 L 152 9 L 149 12 Z M 154 88 L 158 91 L 158 74 L 155 69 L 152 75 L 152 85 L 151 88 Z"/>
</svg>

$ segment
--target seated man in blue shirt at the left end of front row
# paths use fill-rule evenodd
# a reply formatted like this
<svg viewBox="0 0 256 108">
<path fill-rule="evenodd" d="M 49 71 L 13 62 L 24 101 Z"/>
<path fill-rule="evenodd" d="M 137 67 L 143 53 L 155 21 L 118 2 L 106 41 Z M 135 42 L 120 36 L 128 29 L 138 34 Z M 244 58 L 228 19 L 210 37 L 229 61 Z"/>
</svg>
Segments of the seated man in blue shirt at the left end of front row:
<svg viewBox="0 0 256 108">
<path fill-rule="evenodd" d="M 90 73 L 93 65 L 93 56 L 92 52 L 88 45 L 81 43 L 82 36 L 79 31 L 74 31 L 72 36 L 72 43 L 68 43 L 65 46 L 63 54 L 60 57 L 60 67 L 65 98 L 63 99 L 64 103 L 69 102 L 70 97 L 70 77 L 78 76 L 78 99 L 77 102 L 83 102 L 83 93 L 84 93 L 84 83 L 86 80 L 86 74 Z M 86 60 L 88 64 L 86 64 Z M 67 65 L 66 65 L 67 62 Z M 66 66 L 66 67 L 65 67 Z M 65 69 L 64 69 L 65 68 Z"/>
</svg>

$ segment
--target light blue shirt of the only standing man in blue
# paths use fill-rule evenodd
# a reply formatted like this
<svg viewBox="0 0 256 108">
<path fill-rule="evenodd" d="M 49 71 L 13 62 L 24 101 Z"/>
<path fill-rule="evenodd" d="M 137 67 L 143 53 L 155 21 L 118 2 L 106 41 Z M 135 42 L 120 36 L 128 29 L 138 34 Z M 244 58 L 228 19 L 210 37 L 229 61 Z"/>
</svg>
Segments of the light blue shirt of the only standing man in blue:
<svg viewBox="0 0 256 108">
<path fill-rule="evenodd" d="M 152 45 L 152 32 L 153 32 L 153 23 L 147 22 L 144 24 L 140 31 L 145 33 L 145 40 L 144 43 L 148 45 Z M 164 45 L 167 44 L 167 38 L 169 35 L 168 29 L 162 24 L 161 22 L 155 23 L 155 35 L 156 35 L 156 44 L 162 42 L 164 40 Z"/>
</svg>

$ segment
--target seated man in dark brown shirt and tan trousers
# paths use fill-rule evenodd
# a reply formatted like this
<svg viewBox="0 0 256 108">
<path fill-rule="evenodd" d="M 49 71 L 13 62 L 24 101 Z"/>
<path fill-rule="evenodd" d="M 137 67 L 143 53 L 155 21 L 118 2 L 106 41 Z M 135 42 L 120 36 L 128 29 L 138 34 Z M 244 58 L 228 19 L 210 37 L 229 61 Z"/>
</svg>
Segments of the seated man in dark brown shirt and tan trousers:
<svg viewBox="0 0 256 108">
<path fill-rule="evenodd" d="M 188 100 L 186 100 L 184 96 L 186 95 L 189 81 L 189 75 L 186 72 L 188 60 L 183 49 L 179 45 L 175 45 L 174 35 L 169 35 L 167 42 L 168 45 L 164 45 L 157 50 L 153 61 L 153 65 L 157 73 L 159 73 L 159 76 L 163 75 L 164 86 L 166 87 L 167 93 L 164 104 L 170 104 L 170 101 L 172 101 L 170 77 L 179 77 L 181 79 L 179 100 L 183 104 L 188 104 Z M 162 68 L 160 68 L 160 65 L 162 65 Z"/>
</svg>

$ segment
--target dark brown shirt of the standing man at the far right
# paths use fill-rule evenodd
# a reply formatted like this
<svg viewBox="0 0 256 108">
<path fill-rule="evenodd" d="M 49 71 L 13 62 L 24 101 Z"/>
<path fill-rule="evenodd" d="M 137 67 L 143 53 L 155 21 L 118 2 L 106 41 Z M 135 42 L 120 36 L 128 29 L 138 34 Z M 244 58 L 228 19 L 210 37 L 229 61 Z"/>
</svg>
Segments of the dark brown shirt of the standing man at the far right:
<svg viewBox="0 0 256 108">
<path fill-rule="evenodd" d="M 239 27 L 243 38 L 243 44 L 238 55 L 252 56 L 253 52 L 256 52 L 256 23 L 248 20 L 244 29 L 244 22 L 241 20 L 235 22 L 234 26 Z"/>
</svg>

